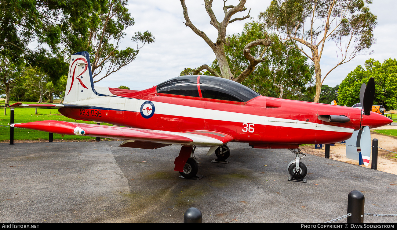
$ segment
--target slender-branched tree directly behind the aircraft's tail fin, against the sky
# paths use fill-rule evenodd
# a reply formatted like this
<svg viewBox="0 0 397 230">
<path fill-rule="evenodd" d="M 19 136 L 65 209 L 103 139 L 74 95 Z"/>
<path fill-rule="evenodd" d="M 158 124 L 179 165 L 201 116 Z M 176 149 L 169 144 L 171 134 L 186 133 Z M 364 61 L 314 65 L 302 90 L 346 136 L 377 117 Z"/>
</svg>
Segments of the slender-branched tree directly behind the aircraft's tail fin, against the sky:
<svg viewBox="0 0 397 230">
<path fill-rule="evenodd" d="M 108 0 L 104 8 L 92 13 L 89 18 L 88 32 L 85 36 L 87 40 L 83 47 L 90 53 L 94 82 L 126 67 L 137 57 L 145 44 L 154 42 L 154 36 L 149 31 L 135 32 L 132 40 L 136 42 L 137 48 L 119 48 L 126 35 L 125 29 L 135 24 L 134 18 L 126 8 L 127 5 L 127 0 Z"/>
</svg>

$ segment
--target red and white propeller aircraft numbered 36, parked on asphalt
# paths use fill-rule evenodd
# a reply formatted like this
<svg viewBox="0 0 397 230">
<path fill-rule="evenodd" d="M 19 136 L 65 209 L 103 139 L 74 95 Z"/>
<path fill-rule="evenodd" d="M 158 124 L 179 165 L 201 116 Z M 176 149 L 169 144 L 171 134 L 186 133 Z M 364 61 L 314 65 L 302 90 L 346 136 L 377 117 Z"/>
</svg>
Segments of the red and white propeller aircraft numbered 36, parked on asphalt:
<svg viewBox="0 0 397 230">
<path fill-rule="evenodd" d="M 182 147 L 174 170 L 186 178 L 194 177 L 198 170 L 195 147 L 210 147 L 207 155 L 215 152 L 218 160 L 229 157 L 229 142 L 249 143 L 252 148 L 288 148 L 295 154 L 289 173 L 303 178 L 307 169 L 300 162 L 299 144 L 336 143 L 364 126 L 374 128 L 392 122 L 365 108 L 364 112 L 264 97 L 237 82 L 212 76 L 179 76 L 142 91 L 94 87 L 89 60 L 87 52 L 71 55 L 63 104 L 15 103 L 10 107 L 59 108 L 69 118 L 114 126 L 52 120 L 10 125 L 124 139 L 123 147 L 155 149 L 178 144 Z M 371 107 L 372 102 L 368 103 Z"/>
</svg>

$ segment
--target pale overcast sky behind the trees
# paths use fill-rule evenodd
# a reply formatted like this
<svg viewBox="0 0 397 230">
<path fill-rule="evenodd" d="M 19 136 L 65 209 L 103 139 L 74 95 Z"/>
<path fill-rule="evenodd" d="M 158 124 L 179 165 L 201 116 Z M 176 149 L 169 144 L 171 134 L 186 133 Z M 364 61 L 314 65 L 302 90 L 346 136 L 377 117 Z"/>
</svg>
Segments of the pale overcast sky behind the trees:
<svg viewBox="0 0 397 230">
<path fill-rule="evenodd" d="M 204 1 L 186 0 L 189 17 L 192 23 L 204 31 L 212 40 L 216 40 L 217 30 L 210 25 L 210 18 L 205 11 Z M 235 5 L 238 0 L 228 0 L 228 5 Z M 259 13 L 265 11 L 270 0 L 247 0 L 245 6 L 251 8 L 251 20 L 256 20 Z M 224 13 L 223 1 L 214 0 L 212 9 L 218 21 L 222 21 Z M 393 0 L 374 0 L 369 5 L 371 12 L 378 16 L 378 25 L 374 29 L 377 42 L 370 50 L 371 55 L 358 55 L 350 61 L 333 70 L 324 81 L 328 86 L 340 84 L 347 74 L 358 65 L 373 58 L 383 62 L 388 58 L 396 58 L 397 54 L 397 4 Z M 136 48 L 131 41 L 134 32 L 149 30 L 156 42 L 146 44 L 139 55 L 128 67 L 97 82 L 96 86 L 118 87 L 128 86 L 131 89 L 142 90 L 157 85 L 165 80 L 176 77 L 185 68 L 196 68 L 203 64 L 210 65 L 215 59 L 213 51 L 183 23 L 183 10 L 179 0 L 129 0 L 129 12 L 135 19 L 135 25 L 125 32 L 127 35 L 121 43 L 121 48 Z M 247 11 L 239 12 L 234 17 L 244 17 Z M 393 16 L 394 15 L 394 16 Z M 234 18 L 232 17 L 232 18 Z M 227 34 L 242 31 L 244 21 L 235 21 L 227 26 Z M 335 44 L 328 43 L 320 62 L 322 76 L 336 65 Z"/>
</svg>

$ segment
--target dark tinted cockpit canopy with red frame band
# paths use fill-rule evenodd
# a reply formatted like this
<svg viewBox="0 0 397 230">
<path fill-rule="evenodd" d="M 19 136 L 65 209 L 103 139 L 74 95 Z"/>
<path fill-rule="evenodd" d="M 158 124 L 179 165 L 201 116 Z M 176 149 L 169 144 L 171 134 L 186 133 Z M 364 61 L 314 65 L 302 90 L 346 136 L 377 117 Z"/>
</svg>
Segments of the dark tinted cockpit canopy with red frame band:
<svg viewBox="0 0 397 230">
<path fill-rule="evenodd" d="M 260 94 L 232 80 L 213 76 L 179 76 L 157 85 L 158 93 L 247 102 Z"/>
</svg>

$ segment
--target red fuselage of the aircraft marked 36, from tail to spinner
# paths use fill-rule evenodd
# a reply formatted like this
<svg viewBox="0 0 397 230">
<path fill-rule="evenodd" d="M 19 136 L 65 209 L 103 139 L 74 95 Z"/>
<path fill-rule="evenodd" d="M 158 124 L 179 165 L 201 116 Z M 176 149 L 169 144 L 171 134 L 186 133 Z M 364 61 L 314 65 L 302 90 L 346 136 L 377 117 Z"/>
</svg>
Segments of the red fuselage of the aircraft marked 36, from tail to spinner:
<svg viewBox="0 0 397 230">
<path fill-rule="evenodd" d="M 231 135 L 235 142 L 257 143 L 257 146 L 262 145 L 264 148 L 336 143 L 349 139 L 353 130 L 358 130 L 360 125 L 372 128 L 390 123 L 388 118 L 373 112 L 370 116 L 361 115 L 361 110 L 357 108 L 264 96 L 243 103 L 158 93 L 156 86 L 143 91 L 114 90 L 113 93 L 115 95 L 111 97 L 118 98 L 114 100 L 125 101 L 124 108 L 109 109 L 92 104 L 92 109 L 60 108 L 59 111 L 77 120 L 141 129 L 218 131 Z M 151 101 L 156 105 L 155 110 L 144 106 L 143 111 L 154 114 L 150 118 L 144 117 L 139 106 L 128 108 L 129 100 L 139 106 L 142 103 L 136 103 L 137 100 Z M 350 121 L 324 122 L 318 119 L 319 115 L 344 115 Z"/>
</svg>

